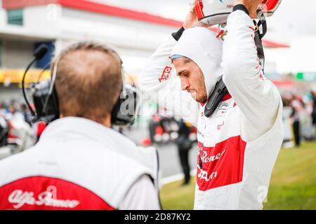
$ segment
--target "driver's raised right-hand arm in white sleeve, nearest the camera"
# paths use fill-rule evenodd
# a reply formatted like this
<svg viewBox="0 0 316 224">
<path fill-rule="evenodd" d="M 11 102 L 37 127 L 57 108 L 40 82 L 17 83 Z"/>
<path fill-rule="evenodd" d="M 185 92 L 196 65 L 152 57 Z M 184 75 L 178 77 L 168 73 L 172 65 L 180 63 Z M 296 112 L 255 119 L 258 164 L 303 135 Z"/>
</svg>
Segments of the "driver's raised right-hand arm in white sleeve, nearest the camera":
<svg viewBox="0 0 316 224">
<path fill-rule="evenodd" d="M 244 133 L 246 140 L 253 141 L 275 123 L 281 98 L 277 87 L 265 78 L 259 63 L 254 22 L 245 11 L 237 9 L 240 7 L 243 6 L 235 6 L 228 17 L 223 80 L 242 111 L 242 125 L 247 127 L 244 130 L 250 130 Z"/>
</svg>

